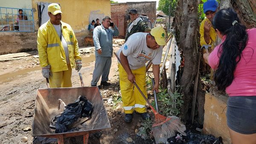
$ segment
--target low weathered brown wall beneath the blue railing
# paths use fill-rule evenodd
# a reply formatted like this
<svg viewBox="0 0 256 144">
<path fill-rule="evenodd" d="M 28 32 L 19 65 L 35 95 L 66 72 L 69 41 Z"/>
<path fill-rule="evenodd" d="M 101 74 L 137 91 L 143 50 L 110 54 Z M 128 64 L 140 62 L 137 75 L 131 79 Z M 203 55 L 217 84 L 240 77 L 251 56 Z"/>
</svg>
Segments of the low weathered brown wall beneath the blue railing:
<svg viewBox="0 0 256 144">
<path fill-rule="evenodd" d="M 37 49 L 36 32 L 1 32 L 0 55 Z"/>
</svg>

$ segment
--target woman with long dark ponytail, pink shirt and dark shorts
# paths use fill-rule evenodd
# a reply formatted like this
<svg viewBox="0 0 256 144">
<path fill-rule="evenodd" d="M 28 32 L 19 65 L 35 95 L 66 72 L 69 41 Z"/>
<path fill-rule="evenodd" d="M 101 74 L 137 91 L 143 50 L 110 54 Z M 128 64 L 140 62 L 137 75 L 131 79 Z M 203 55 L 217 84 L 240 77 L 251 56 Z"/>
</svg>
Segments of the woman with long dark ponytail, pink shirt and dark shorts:
<svg viewBox="0 0 256 144">
<path fill-rule="evenodd" d="M 236 12 L 221 9 L 212 26 L 222 42 L 204 59 L 216 69 L 214 81 L 226 90 L 227 125 L 233 144 L 256 144 L 256 29 L 246 29 Z"/>
</svg>

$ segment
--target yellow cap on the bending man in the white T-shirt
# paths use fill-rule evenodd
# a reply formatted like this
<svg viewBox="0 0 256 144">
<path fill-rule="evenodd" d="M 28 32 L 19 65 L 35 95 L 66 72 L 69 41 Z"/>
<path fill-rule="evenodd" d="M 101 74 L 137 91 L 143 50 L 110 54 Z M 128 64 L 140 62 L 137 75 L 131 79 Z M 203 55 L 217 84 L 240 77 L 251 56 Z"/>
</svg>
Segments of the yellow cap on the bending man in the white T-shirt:
<svg viewBox="0 0 256 144">
<path fill-rule="evenodd" d="M 154 27 L 151 29 L 150 34 L 155 38 L 159 46 L 166 45 L 166 32 L 161 26 Z"/>
</svg>

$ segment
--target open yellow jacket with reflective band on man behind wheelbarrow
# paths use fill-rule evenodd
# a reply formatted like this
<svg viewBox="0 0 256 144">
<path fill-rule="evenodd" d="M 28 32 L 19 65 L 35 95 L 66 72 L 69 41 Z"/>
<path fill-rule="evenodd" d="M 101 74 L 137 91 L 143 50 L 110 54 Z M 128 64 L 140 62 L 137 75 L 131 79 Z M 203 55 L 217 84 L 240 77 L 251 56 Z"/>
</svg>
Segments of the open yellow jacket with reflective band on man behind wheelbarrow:
<svg viewBox="0 0 256 144">
<path fill-rule="evenodd" d="M 70 66 L 75 68 L 75 60 L 81 60 L 75 33 L 69 24 L 62 21 L 61 32 L 67 42 Z M 38 29 L 37 43 L 41 67 L 50 65 L 52 72 L 68 70 L 64 48 L 50 20 Z"/>
</svg>

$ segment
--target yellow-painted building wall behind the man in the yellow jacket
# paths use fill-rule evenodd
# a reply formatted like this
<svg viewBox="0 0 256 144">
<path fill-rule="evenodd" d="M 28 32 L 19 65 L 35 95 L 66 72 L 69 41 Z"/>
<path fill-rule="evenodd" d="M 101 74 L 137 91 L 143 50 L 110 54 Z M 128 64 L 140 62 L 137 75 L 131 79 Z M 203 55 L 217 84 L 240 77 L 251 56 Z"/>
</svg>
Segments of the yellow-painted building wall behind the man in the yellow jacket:
<svg viewBox="0 0 256 144">
<path fill-rule="evenodd" d="M 32 0 L 34 10 L 35 29 L 39 28 L 38 3 Z M 46 3 L 59 3 L 62 11 L 62 21 L 68 23 L 76 34 L 79 46 L 84 46 L 84 37 L 91 36 L 87 29 L 92 20 L 111 15 L 109 0 L 44 0 Z"/>
</svg>

